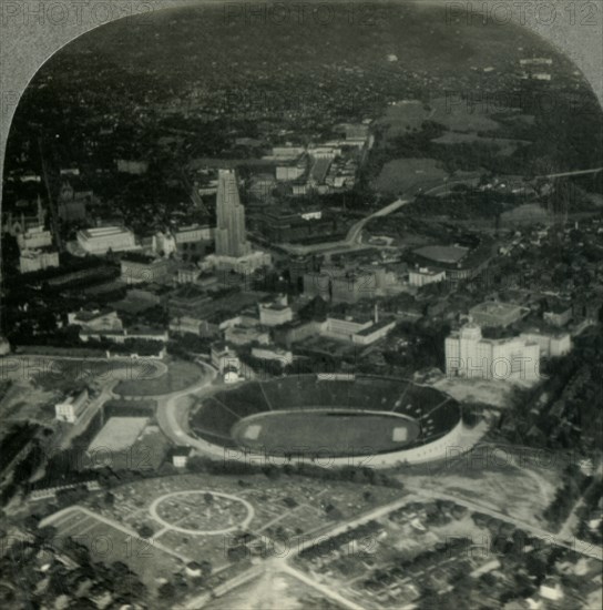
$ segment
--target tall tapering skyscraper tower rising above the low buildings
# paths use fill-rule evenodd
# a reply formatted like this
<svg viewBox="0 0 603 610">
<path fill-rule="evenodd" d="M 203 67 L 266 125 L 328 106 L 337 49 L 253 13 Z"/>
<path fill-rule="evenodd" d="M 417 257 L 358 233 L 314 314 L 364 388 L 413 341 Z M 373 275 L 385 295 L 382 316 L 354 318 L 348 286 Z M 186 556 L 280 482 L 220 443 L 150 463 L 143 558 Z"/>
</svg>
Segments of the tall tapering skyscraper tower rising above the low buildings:
<svg viewBox="0 0 603 610">
<path fill-rule="evenodd" d="M 219 170 L 216 199 L 216 255 L 239 258 L 252 251 L 245 238 L 245 209 L 241 205 L 234 170 Z"/>
</svg>

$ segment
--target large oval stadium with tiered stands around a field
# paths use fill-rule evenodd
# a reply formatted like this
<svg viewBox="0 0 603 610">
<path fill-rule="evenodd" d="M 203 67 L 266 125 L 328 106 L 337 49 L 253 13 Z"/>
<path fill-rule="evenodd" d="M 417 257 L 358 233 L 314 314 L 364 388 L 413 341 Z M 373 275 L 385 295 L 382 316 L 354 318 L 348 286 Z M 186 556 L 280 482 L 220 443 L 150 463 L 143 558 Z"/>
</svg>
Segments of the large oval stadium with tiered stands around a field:
<svg viewBox="0 0 603 610">
<path fill-rule="evenodd" d="M 336 374 L 219 389 L 193 406 L 190 424 L 200 440 L 273 464 L 303 456 L 340 466 L 370 456 L 381 467 L 441 459 L 463 428 L 460 405 L 435 388 Z"/>
</svg>

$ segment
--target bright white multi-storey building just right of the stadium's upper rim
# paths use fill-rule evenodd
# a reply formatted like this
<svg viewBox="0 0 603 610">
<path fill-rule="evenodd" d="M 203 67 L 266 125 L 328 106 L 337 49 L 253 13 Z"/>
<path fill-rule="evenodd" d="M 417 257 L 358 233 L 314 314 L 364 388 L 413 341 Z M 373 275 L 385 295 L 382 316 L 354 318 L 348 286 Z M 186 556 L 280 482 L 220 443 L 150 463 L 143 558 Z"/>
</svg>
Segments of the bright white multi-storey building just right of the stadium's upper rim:
<svg viewBox="0 0 603 610">
<path fill-rule="evenodd" d="M 480 379 L 538 380 L 540 346 L 523 337 L 484 339 L 468 324 L 446 338 L 446 374 Z"/>
</svg>

